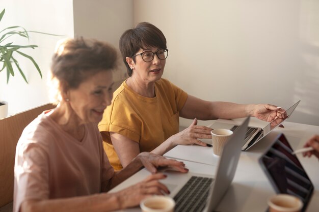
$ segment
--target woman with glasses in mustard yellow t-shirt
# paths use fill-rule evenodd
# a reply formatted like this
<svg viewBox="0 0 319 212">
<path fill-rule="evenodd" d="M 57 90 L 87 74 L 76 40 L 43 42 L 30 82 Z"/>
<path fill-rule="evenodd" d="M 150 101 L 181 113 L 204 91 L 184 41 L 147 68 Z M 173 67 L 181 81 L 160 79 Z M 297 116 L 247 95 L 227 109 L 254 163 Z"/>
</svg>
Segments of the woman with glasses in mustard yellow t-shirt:
<svg viewBox="0 0 319 212">
<path fill-rule="evenodd" d="M 115 170 L 121 170 L 140 152 L 163 155 L 177 144 L 206 146 L 198 138 L 211 138 L 211 129 L 197 126 L 196 118 L 254 116 L 270 122 L 284 112 L 269 104 L 204 101 L 162 79 L 168 56 L 166 38 L 150 23 L 139 23 L 124 32 L 120 50 L 129 77 L 114 92 L 98 125 Z M 179 116 L 194 119 L 182 132 L 178 132 Z"/>
</svg>

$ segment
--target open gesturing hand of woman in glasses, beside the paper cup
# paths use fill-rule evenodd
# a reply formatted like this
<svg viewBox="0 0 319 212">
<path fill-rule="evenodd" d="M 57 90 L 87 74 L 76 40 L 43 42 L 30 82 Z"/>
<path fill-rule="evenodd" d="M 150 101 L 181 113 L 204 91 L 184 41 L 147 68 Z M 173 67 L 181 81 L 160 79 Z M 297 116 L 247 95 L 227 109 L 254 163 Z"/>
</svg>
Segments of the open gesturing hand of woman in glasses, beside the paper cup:
<svg viewBox="0 0 319 212">
<path fill-rule="evenodd" d="M 197 126 L 197 118 L 194 119 L 190 127 L 185 130 L 171 136 L 175 145 L 190 145 L 198 144 L 201 146 L 207 146 L 206 143 L 198 140 L 198 138 L 209 138 L 211 139 L 210 131 L 212 129 L 205 126 Z"/>
</svg>

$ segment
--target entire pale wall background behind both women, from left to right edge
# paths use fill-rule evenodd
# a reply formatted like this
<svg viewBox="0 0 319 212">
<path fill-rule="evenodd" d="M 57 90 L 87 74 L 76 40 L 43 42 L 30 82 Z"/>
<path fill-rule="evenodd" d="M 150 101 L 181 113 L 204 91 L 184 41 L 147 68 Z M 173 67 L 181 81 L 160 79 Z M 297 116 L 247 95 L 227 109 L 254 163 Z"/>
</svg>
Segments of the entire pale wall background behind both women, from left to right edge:
<svg viewBox="0 0 319 212">
<path fill-rule="evenodd" d="M 290 121 L 319 125 L 319 1 L 317 0 L 0 0 L 4 25 L 96 38 L 118 47 L 127 28 L 149 21 L 162 29 L 169 57 L 164 77 L 189 94 L 211 101 L 272 103 L 301 100 Z M 31 10 L 32 9 L 32 10 Z M 31 12 L 32 11 L 32 12 Z M 16 15 L 19 14 L 19 15 Z M 1 27 L 2 27 L 1 26 Z M 59 38 L 31 35 L 44 79 L 27 60 L 29 85 L 20 76 L 0 99 L 9 113 L 48 102 L 46 73 Z M 123 72 L 115 80 L 123 78 Z M 181 125 L 190 122 L 181 120 Z"/>
</svg>

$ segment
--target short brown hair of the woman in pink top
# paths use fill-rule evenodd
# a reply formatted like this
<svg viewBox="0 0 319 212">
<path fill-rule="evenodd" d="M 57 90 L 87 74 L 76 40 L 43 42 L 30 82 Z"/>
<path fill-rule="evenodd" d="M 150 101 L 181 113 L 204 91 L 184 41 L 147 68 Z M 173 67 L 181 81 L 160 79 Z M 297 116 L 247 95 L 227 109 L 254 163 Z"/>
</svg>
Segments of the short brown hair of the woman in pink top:
<svg viewBox="0 0 319 212">
<path fill-rule="evenodd" d="M 68 88 L 77 88 L 88 76 L 113 70 L 116 58 L 116 50 L 107 43 L 82 37 L 68 39 L 52 57 L 52 78 L 66 83 Z"/>
</svg>

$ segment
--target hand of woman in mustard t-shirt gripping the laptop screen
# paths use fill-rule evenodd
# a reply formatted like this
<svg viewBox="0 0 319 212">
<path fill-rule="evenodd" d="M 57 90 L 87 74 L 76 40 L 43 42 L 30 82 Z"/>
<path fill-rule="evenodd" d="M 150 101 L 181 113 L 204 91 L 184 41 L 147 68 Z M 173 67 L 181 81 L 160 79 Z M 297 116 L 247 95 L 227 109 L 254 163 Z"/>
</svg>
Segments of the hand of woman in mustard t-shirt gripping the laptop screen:
<svg viewBox="0 0 319 212">
<path fill-rule="evenodd" d="M 259 104 L 255 106 L 253 116 L 266 122 L 274 122 L 274 125 L 277 125 L 287 118 L 287 113 L 283 108 L 275 105 Z"/>
</svg>

